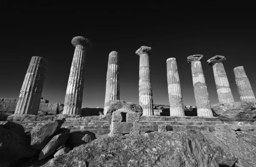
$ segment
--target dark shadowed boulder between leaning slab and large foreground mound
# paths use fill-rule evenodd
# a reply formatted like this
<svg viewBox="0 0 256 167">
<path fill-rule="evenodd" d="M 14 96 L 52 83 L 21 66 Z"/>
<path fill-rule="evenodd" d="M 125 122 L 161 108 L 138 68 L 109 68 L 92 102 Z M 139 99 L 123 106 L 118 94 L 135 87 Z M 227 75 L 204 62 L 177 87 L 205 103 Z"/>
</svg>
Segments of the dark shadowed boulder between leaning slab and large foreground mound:
<svg viewBox="0 0 256 167">
<path fill-rule="evenodd" d="M 81 144 L 87 144 L 90 141 L 93 141 L 96 139 L 96 135 L 93 132 L 90 131 L 77 131 L 77 132 L 71 132 L 69 136 L 69 144 L 70 149 L 72 150 L 74 147 L 78 147 Z"/>
</svg>

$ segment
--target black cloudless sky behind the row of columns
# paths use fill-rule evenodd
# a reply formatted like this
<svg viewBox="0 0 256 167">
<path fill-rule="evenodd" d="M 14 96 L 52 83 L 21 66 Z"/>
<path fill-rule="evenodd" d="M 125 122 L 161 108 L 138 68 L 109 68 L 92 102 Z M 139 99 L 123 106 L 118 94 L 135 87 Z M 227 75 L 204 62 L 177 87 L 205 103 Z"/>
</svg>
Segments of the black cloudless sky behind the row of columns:
<svg viewBox="0 0 256 167">
<path fill-rule="evenodd" d="M 140 46 L 150 57 L 154 104 L 169 105 L 166 59 L 176 58 L 184 105 L 195 105 L 189 55 L 201 54 L 212 104 L 218 103 L 212 66 L 215 55 L 224 67 L 235 101 L 239 101 L 233 68 L 244 66 L 256 92 L 256 18 L 252 10 L 187 9 L 172 3 L 148 4 L 7 4 L 0 26 L 0 98 L 19 95 L 32 56 L 48 60 L 42 97 L 64 103 L 75 48 L 71 40 L 91 40 L 86 60 L 82 107 L 104 107 L 108 54 L 119 52 L 120 99 L 139 103 Z M 231 8 L 231 7 L 230 7 Z"/>
</svg>

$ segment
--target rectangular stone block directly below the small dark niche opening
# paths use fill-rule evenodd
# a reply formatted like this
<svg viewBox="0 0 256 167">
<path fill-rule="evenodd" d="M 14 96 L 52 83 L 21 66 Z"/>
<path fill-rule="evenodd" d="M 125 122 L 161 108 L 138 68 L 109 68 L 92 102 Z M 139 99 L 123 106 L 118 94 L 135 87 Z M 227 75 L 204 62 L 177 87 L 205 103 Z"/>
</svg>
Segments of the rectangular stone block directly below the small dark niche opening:
<svg viewBox="0 0 256 167">
<path fill-rule="evenodd" d="M 130 133 L 133 128 L 133 123 L 130 122 L 112 122 L 112 133 Z"/>
</svg>

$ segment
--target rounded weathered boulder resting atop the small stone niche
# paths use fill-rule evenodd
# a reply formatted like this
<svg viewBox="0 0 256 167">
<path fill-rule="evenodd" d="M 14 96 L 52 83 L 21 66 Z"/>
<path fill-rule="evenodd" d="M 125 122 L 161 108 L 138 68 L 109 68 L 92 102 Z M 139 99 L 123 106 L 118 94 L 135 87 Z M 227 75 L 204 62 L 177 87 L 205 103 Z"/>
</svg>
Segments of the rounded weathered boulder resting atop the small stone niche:
<svg viewBox="0 0 256 167">
<path fill-rule="evenodd" d="M 143 112 L 142 108 L 138 104 L 134 104 L 128 101 L 115 100 L 111 101 L 110 106 L 108 107 L 107 115 L 118 109 L 130 109 L 133 112 Z"/>
</svg>

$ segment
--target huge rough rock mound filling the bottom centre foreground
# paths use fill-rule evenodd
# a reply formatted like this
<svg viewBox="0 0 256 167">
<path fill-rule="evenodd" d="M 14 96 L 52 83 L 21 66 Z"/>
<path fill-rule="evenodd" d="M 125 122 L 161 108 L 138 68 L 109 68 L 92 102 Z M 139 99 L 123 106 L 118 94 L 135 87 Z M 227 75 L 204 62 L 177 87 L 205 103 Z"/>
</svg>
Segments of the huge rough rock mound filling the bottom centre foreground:
<svg viewBox="0 0 256 167">
<path fill-rule="evenodd" d="M 220 157 L 199 131 L 185 130 L 100 138 L 43 167 L 231 167 L 235 159 Z"/>
</svg>

